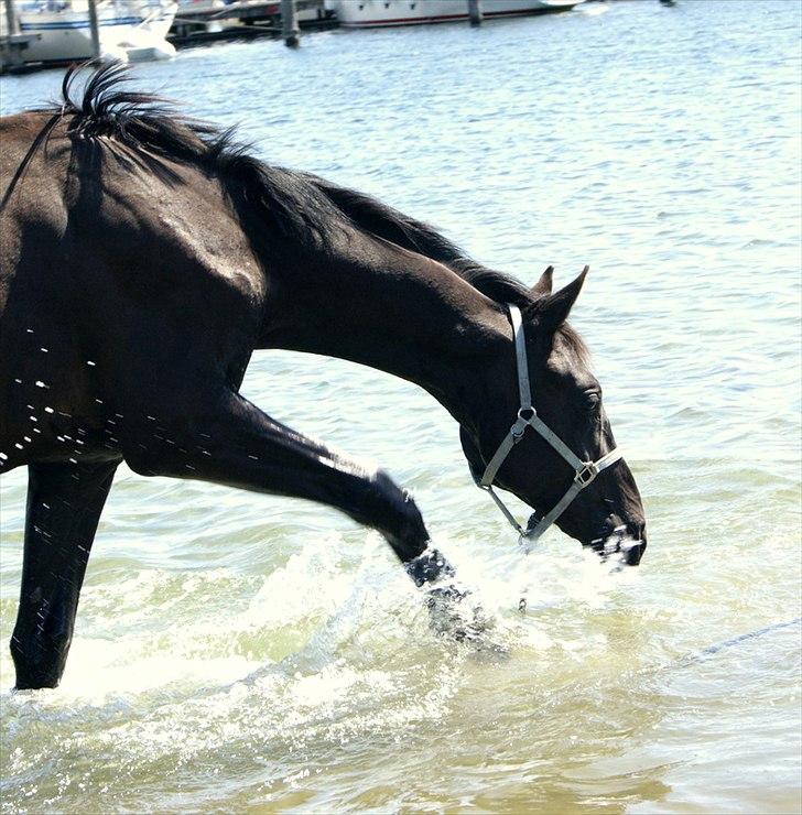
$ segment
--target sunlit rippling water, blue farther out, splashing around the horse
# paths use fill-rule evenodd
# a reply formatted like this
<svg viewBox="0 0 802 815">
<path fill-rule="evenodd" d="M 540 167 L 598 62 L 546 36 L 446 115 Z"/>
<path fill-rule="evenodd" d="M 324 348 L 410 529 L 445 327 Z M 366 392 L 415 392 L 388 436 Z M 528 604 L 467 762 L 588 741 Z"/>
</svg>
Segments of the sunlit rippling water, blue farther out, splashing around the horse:
<svg viewBox="0 0 802 815">
<path fill-rule="evenodd" d="M 621 574 L 556 531 L 523 558 L 424 393 L 258 354 L 245 393 L 414 491 L 498 650 L 434 635 L 379 536 L 332 511 L 122 471 L 64 683 L 12 695 L 14 472 L 2 812 L 798 811 L 799 627 L 685 658 L 800 616 L 799 33 L 795 2 L 621 2 L 138 67 L 524 280 L 590 263 L 574 323 L 650 545 Z M 59 80 L 3 79 L 3 111 Z"/>
</svg>

